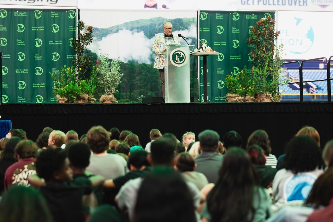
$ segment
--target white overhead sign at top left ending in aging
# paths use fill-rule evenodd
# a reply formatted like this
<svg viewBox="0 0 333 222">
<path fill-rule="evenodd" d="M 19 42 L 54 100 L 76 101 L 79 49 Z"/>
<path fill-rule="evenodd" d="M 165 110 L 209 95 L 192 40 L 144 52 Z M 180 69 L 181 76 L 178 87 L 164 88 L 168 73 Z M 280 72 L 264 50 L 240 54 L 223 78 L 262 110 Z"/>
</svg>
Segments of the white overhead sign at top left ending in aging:
<svg viewBox="0 0 333 222">
<path fill-rule="evenodd" d="M 78 0 L 0 0 L 4 5 L 41 5 L 55 7 L 77 7 Z"/>
</svg>

